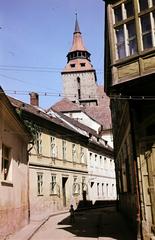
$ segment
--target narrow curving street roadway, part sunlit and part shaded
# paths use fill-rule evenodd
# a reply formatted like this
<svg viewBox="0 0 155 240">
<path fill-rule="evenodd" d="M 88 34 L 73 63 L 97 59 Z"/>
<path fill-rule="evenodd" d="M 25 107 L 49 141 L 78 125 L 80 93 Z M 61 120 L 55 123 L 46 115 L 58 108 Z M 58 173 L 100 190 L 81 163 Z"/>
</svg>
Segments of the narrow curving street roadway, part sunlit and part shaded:
<svg viewBox="0 0 155 240">
<path fill-rule="evenodd" d="M 51 217 L 31 240 L 134 240 L 131 229 L 114 208 L 81 211 L 70 224 L 69 214 Z"/>
</svg>

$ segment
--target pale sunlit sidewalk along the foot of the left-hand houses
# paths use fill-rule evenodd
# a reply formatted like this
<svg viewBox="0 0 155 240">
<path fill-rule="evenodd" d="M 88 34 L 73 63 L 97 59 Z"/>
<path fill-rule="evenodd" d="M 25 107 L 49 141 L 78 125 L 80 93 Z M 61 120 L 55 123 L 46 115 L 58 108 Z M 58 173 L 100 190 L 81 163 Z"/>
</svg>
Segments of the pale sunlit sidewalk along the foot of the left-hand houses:
<svg viewBox="0 0 155 240">
<path fill-rule="evenodd" d="M 31 237 L 38 231 L 38 229 L 52 216 L 68 213 L 68 211 L 54 212 L 50 215 L 36 215 L 33 216 L 33 219 L 30 220 L 30 223 L 15 232 L 14 234 L 9 235 L 5 240 L 30 240 Z"/>
</svg>

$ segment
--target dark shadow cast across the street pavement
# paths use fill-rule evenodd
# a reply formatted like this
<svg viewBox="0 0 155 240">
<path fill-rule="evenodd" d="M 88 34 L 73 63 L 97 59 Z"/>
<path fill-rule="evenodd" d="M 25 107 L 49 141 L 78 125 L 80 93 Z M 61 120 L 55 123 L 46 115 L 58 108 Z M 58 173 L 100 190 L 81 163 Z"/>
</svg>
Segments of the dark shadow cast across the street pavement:
<svg viewBox="0 0 155 240">
<path fill-rule="evenodd" d="M 115 207 L 77 211 L 73 224 L 70 216 L 58 224 L 62 225 L 61 229 L 77 237 L 136 240 L 136 236 L 128 227 L 123 216 L 116 211 Z"/>
</svg>

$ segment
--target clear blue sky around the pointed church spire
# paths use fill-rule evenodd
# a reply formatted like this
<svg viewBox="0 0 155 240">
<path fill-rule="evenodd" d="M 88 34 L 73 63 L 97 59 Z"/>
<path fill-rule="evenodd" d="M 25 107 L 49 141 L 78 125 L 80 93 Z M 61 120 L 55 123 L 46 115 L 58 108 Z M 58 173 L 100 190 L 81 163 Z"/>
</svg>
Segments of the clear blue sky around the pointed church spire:
<svg viewBox="0 0 155 240">
<path fill-rule="evenodd" d="M 98 84 L 103 84 L 102 0 L 1 0 L 0 86 L 8 95 L 29 102 L 28 92 L 48 92 L 52 96 L 39 98 L 43 108 L 60 99 L 75 12 Z"/>
</svg>

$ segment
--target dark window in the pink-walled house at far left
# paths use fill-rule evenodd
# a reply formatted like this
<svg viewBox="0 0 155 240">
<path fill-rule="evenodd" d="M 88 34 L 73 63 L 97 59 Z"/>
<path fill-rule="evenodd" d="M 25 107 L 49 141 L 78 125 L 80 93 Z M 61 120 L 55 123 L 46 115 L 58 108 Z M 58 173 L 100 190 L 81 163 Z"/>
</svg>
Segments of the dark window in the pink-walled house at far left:
<svg viewBox="0 0 155 240">
<path fill-rule="evenodd" d="M 6 145 L 2 145 L 2 174 L 3 179 L 8 179 L 8 173 L 10 168 L 10 152 L 11 149 L 7 147 Z"/>
</svg>

